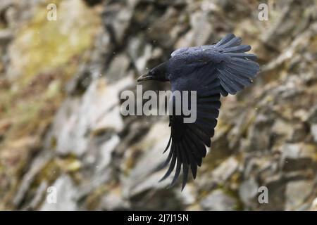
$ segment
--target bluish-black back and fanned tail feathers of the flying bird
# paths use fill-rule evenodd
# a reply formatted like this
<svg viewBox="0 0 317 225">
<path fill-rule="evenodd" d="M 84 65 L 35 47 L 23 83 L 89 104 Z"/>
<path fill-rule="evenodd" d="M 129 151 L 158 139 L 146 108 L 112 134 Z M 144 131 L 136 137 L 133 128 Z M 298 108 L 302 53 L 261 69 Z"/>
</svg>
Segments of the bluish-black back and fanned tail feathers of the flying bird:
<svg viewBox="0 0 317 225">
<path fill-rule="evenodd" d="M 241 43 L 240 37 L 228 34 L 214 45 L 178 49 L 171 54 L 170 60 L 178 61 L 186 58 L 187 69 L 182 71 L 201 66 L 211 70 L 216 68 L 221 94 L 223 96 L 236 94 L 237 91 L 252 84 L 251 79 L 259 72 L 259 64 L 255 62 L 256 56 L 245 53 L 251 50 L 251 46 Z"/>
</svg>

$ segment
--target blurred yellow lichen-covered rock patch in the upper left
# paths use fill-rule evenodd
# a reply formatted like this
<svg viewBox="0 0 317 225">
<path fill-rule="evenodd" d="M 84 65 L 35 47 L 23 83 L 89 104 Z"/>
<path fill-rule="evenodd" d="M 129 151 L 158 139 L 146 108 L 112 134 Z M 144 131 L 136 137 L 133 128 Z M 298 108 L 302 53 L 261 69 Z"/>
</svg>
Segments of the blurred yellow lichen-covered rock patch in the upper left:
<svg viewBox="0 0 317 225">
<path fill-rule="evenodd" d="M 44 70 L 68 65 L 71 58 L 92 46 L 92 37 L 97 33 L 100 18 L 92 8 L 87 8 L 83 1 L 61 1 L 57 6 L 56 21 L 48 21 L 46 15 L 43 15 L 47 12 L 46 5 L 35 7 L 38 4 L 36 2 L 23 1 L 15 8 L 16 16 L 19 18 L 17 20 L 30 22 L 24 29 L 18 29 L 8 46 L 8 58 L 11 63 L 8 65 L 6 76 L 9 79 L 21 75 L 25 75 L 25 79 L 30 79 Z M 69 7 L 74 10 L 70 12 Z M 29 11 L 27 8 L 32 10 Z M 33 13 L 42 16 L 30 19 Z"/>
</svg>

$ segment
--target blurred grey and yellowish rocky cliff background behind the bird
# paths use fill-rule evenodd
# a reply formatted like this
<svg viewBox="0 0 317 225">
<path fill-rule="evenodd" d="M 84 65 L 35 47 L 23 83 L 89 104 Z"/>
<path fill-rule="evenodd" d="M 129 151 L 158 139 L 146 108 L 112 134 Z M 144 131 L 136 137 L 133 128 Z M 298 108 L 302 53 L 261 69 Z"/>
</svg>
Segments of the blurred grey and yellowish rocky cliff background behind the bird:
<svg viewBox="0 0 317 225">
<path fill-rule="evenodd" d="M 120 92 L 174 49 L 228 32 L 261 72 L 222 98 L 197 179 L 168 189 L 156 170 L 168 118 L 123 117 Z M 0 210 L 317 210 L 314 0 L 1 0 L 0 57 Z"/>
</svg>

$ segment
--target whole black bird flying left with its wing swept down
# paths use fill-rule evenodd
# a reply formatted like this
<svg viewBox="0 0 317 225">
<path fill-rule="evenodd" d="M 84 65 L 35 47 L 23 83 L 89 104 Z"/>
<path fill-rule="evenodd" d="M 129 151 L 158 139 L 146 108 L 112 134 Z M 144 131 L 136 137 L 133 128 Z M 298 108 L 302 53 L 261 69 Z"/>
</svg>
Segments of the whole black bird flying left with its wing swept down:
<svg viewBox="0 0 317 225">
<path fill-rule="evenodd" d="M 254 54 L 245 53 L 249 45 L 241 45 L 242 39 L 228 34 L 217 44 L 182 48 L 174 51 L 169 60 L 149 70 L 137 81 L 154 79 L 169 81 L 171 91 L 197 91 L 197 120 L 184 123 L 182 115 L 170 115 L 170 139 L 166 150 L 170 152 L 163 167 L 170 163 L 166 179 L 175 168 L 170 186 L 180 176 L 182 167 L 182 189 L 187 183 L 189 169 L 195 179 L 197 166 L 206 156 L 206 146 L 211 146 L 211 137 L 217 124 L 220 94 L 236 94 L 244 86 L 252 84 L 259 72 Z M 164 150 L 164 153 L 166 152 Z"/>
</svg>

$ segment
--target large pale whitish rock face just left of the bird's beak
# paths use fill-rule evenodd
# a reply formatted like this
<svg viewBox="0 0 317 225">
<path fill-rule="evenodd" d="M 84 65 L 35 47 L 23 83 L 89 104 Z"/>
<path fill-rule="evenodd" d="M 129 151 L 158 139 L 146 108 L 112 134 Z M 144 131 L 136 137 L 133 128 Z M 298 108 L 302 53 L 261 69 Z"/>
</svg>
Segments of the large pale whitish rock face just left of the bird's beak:
<svg viewBox="0 0 317 225">
<path fill-rule="evenodd" d="M 75 97 L 66 100 L 53 127 L 57 153 L 74 153 L 80 156 L 87 151 L 89 141 L 101 131 L 118 132 L 123 129 L 118 105 L 119 91 L 131 83 L 132 77 L 113 85 L 108 85 L 105 79 L 97 79 L 92 82 L 82 99 Z"/>
</svg>

